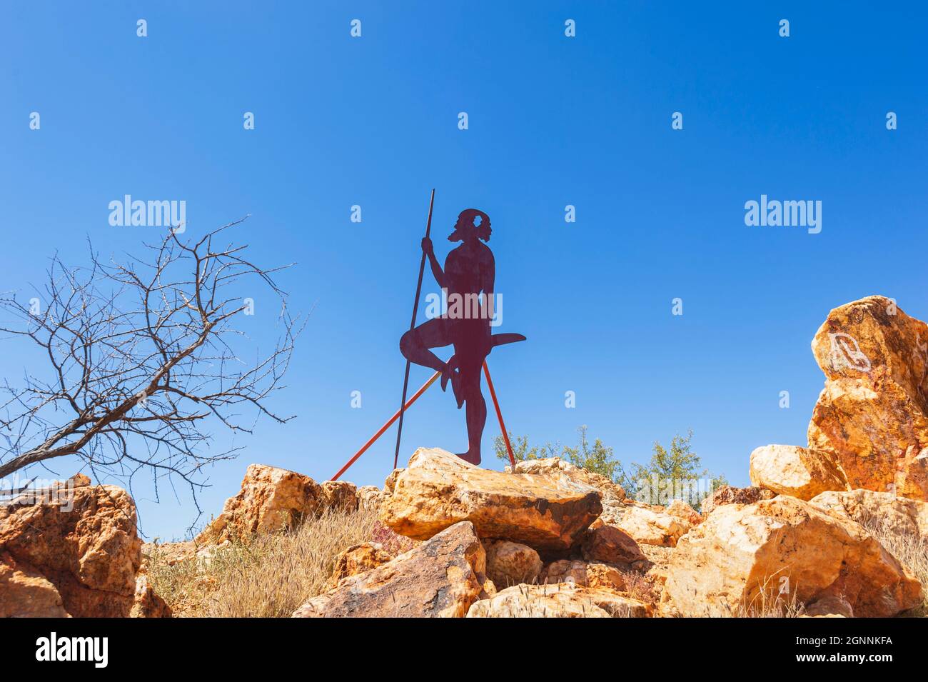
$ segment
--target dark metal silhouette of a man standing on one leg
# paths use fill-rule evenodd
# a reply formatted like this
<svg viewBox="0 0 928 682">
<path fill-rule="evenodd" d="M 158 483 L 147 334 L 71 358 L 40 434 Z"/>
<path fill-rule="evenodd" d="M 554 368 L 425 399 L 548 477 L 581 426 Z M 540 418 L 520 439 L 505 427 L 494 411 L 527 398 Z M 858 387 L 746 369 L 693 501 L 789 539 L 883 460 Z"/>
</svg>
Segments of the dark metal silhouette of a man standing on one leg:
<svg viewBox="0 0 928 682">
<path fill-rule="evenodd" d="M 493 251 L 483 243 L 489 241 L 490 233 L 486 213 L 477 209 L 460 212 L 448 241 L 461 244 L 448 253 L 444 270 L 435 257 L 432 239 L 422 239 L 422 251 L 429 259 L 432 275 L 438 286 L 446 290 L 448 310 L 407 331 L 400 339 L 400 352 L 407 360 L 441 372 L 442 390 L 445 391 L 450 380 L 458 409 L 467 404 L 468 450 L 458 457 L 471 464 L 480 464 L 480 441 L 486 423 L 480 377 L 483 360 L 494 346 L 525 340 L 521 334 L 490 333 L 496 263 Z M 483 306 L 476 306 L 481 294 Z M 447 362 L 430 350 L 447 345 L 454 346 L 454 354 Z"/>
</svg>

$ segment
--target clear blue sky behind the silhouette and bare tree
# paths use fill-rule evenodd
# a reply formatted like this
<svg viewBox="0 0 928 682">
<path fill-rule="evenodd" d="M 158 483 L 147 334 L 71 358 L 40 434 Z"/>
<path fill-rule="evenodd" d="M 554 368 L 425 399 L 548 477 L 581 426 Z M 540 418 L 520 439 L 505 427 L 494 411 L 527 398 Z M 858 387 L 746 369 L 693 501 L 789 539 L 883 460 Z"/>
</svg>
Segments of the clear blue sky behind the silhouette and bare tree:
<svg viewBox="0 0 928 682">
<path fill-rule="evenodd" d="M 158 228 L 110 226 L 124 194 L 185 199 L 190 236 L 251 214 L 237 240 L 296 261 L 280 283 L 312 314 L 277 403 L 298 418 L 259 422 L 209 472 L 200 505 L 218 513 L 248 463 L 327 479 L 396 409 L 435 187 L 439 257 L 460 210 L 487 212 L 497 330 L 528 337 L 489 358 L 510 431 L 573 443 L 586 424 L 627 463 L 691 428 L 705 466 L 747 483 L 754 447 L 806 443 L 823 382 L 809 341 L 831 308 L 879 293 L 928 318 L 928 12 L 746 5 L 5 2 L 0 290 L 41 283 L 54 251 L 83 264 L 87 238 L 138 251 Z M 761 194 L 820 200 L 821 232 L 745 225 Z M 259 299 L 242 318 L 256 348 L 275 315 Z M 41 371 L 0 343 L 3 376 Z M 463 449 L 463 417 L 433 389 L 403 456 Z M 491 413 L 486 466 L 496 433 Z M 381 484 L 393 440 L 345 478 Z M 195 516 L 182 490 L 135 495 L 149 536 Z"/>
</svg>

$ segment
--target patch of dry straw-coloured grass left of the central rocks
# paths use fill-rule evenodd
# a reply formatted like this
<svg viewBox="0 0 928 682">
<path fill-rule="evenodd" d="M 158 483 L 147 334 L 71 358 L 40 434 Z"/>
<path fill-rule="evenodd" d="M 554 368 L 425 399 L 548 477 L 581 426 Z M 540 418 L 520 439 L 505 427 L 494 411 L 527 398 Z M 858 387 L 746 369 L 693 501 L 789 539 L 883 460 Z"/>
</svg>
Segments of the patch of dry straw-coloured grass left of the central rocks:
<svg viewBox="0 0 928 682">
<path fill-rule="evenodd" d="M 329 588 L 335 557 L 371 540 L 376 527 L 374 511 L 328 512 L 295 530 L 214 547 L 174 565 L 166 550 L 155 547 L 148 554 L 148 579 L 178 616 L 290 617 Z"/>
</svg>

